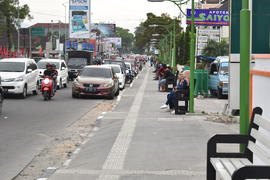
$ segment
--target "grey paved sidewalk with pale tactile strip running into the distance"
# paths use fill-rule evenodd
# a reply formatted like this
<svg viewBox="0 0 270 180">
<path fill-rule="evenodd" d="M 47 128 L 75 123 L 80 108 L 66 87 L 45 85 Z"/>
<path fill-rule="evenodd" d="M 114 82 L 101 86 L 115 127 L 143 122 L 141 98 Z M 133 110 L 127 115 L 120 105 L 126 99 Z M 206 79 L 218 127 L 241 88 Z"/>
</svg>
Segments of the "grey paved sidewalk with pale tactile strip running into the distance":
<svg viewBox="0 0 270 180">
<path fill-rule="evenodd" d="M 50 180 L 205 179 L 208 139 L 234 133 L 237 125 L 161 110 L 166 93 L 157 92 L 151 71 L 146 68 L 125 90 L 115 109 L 100 117 L 95 131 Z"/>
</svg>

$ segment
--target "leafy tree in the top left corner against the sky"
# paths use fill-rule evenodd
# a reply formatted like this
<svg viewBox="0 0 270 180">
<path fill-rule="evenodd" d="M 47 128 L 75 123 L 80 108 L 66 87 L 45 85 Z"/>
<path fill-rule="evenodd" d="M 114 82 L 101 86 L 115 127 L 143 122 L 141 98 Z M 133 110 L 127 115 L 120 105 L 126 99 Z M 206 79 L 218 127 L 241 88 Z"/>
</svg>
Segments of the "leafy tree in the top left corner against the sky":
<svg viewBox="0 0 270 180">
<path fill-rule="evenodd" d="M 5 19 L 5 32 L 8 39 L 8 46 L 12 46 L 12 35 L 11 32 L 19 27 L 19 19 L 25 19 L 32 17 L 30 16 L 30 9 L 28 5 L 18 6 L 19 0 L 0 0 L 0 12 Z"/>
</svg>

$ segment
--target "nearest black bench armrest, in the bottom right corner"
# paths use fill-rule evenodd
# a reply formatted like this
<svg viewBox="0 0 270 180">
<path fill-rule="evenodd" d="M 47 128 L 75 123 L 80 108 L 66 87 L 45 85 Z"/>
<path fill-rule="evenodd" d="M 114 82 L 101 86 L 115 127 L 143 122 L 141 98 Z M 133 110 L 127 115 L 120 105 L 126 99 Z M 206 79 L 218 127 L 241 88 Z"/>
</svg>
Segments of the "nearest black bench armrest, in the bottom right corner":
<svg viewBox="0 0 270 180">
<path fill-rule="evenodd" d="M 270 179 L 270 166 L 245 166 L 232 175 L 232 180 Z"/>
</svg>

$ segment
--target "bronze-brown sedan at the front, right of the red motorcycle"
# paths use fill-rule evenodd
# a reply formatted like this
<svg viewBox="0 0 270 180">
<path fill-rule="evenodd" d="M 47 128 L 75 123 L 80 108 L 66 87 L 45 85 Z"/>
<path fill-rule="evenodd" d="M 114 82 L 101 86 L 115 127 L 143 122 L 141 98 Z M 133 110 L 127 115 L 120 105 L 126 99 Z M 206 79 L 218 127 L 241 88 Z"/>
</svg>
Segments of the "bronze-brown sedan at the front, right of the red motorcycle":
<svg viewBox="0 0 270 180">
<path fill-rule="evenodd" d="M 111 67 L 85 66 L 72 85 L 72 97 L 104 96 L 113 99 L 119 95 L 119 81 Z"/>
</svg>

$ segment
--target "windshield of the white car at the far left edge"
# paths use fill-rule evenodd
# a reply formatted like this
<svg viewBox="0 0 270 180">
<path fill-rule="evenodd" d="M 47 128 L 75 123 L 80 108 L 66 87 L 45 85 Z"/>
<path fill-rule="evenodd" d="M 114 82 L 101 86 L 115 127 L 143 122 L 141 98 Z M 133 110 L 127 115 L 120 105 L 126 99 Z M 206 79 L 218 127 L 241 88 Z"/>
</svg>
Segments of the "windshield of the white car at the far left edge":
<svg viewBox="0 0 270 180">
<path fill-rule="evenodd" d="M 0 62 L 0 72 L 24 72 L 24 62 Z"/>
</svg>

